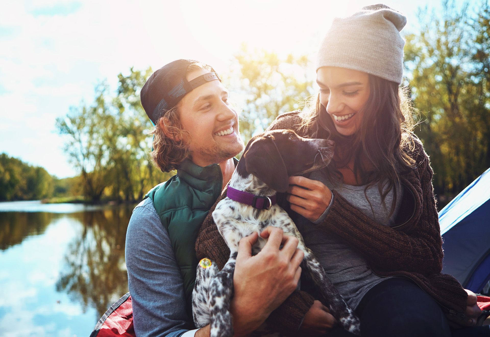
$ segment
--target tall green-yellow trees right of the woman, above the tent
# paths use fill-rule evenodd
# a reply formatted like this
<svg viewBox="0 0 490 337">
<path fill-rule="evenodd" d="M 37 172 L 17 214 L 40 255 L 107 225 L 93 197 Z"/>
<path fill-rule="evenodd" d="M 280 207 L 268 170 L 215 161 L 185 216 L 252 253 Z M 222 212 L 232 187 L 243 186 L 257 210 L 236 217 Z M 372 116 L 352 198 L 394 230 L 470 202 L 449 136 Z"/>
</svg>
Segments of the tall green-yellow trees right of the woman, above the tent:
<svg viewBox="0 0 490 337">
<path fill-rule="evenodd" d="M 406 37 L 405 67 L 416 134 L 435 171 L 436 194 L 457 194 L 490 166 L 489 11 L 443 1 L 440 14 L 419 10 L 421 31 Z"/>
</svg>

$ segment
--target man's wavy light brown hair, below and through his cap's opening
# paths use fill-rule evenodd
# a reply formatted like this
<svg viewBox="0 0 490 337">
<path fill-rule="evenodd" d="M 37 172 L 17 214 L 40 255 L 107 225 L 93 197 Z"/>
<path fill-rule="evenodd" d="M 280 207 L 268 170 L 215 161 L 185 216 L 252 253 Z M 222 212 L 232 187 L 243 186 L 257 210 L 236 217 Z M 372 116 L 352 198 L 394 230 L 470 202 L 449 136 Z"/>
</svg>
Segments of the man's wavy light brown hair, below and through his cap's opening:
<svg viewBox="0 0 490 337">
<path fill-rule="evenodd" d="M 210 66 L 195 62 L 187 67 L 186 74 L 199 69 L 213 71 Z M 150 159 L 162 172 L 175 170 L 189 155 L 190 135 L 182 129 L 180 122 L 181 103 L 182 101 L 172 109 L 162 111 L 162 116 L 149 133 L 153 135 L 153 149 L 150 152 Z"/>
</svg>

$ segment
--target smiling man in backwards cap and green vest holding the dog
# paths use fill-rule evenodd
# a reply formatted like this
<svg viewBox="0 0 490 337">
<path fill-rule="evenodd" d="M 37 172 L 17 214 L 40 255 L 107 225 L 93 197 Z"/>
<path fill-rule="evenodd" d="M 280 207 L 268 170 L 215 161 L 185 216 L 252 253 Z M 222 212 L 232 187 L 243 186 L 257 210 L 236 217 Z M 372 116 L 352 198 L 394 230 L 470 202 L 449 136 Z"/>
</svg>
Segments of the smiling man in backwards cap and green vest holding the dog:
<svg viewBox="0 0 490 337">
<path fill-rule="evenodd" d="M 196 279 L 199 226 L 221 195 L 244 149 L 238 114 L 210 66 L 177 60 L 155 71 L 141 90 L 155 125 L 151 158 L 177 175 L 155 186 L 133 211 L 126 266 L 137 336 L 209 336 L 194 329 L 191 294 Z M 296 288 L 303 252 L 297 240 L 269 227 L 262 252 L 257 234 L 240 241 L 231 312 L 236 335 L 261 325 Z M 279 249 L 280 246 L 282 249 Z M 330 318 L 329 318 L 330 319 Z"/>
</svg>

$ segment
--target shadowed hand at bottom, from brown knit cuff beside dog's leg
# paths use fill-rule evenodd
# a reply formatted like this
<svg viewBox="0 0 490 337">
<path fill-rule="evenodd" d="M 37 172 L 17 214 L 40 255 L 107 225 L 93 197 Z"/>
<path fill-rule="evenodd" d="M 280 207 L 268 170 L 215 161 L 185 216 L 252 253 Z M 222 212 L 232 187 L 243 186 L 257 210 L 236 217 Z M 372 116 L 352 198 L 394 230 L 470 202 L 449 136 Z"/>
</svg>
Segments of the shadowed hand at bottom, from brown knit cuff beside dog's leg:
<svg viewBox="0 0 490 337">
<path fill-rule="evenodd" d="M 321 304 L 319 300 L 315 300 L 303 319 L 303 323 L 299 328 L 299 335 L 325 335 L 336 324 L 337 321 L 334 316 L 330 314 L 330 310 Z"/>
</svg>

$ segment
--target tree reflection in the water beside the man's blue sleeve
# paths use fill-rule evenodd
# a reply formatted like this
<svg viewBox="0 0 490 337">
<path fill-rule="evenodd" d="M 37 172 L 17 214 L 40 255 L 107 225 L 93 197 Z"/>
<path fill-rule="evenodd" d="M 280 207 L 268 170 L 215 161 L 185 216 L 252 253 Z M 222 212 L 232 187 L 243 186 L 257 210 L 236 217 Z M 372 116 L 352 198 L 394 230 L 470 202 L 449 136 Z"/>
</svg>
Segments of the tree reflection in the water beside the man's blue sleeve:
<svg viewBox="0 0 490 337">
<path fill-rule="evenodd" d="M 124 262 L 126 229 L 133 206 L 73 214 L 83 225 L 65 255 L 67 271 L 56 283 L 83 310 L 94 307 L 98 317 L 127 290 Z"/>
</svg>

